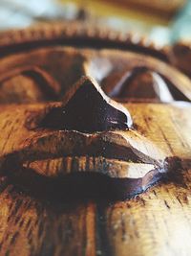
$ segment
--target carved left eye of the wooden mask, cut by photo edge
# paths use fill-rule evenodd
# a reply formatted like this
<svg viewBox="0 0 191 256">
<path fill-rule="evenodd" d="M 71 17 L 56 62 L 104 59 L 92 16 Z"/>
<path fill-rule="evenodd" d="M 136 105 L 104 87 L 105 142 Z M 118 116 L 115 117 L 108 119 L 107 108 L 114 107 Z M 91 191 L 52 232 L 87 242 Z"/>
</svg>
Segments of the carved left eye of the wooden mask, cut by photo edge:
<svg viewBox="0 0 191 256">
<path fill-rule="evenodd" d="M 59 85 L 39 67 L 17 68 L 0 77 L 1 104 L 55 101 Z"/>
</svg>

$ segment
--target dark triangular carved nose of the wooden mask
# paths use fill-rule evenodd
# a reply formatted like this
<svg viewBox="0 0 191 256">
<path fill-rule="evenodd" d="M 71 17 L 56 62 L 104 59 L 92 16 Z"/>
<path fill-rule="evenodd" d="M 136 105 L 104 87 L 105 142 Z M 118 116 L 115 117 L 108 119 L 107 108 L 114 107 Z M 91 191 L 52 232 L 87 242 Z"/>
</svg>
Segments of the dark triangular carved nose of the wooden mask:
<svg viewBox="0 0 191 256">
<path fill-rule="evenodd" d="M 106 96 L 94 79 L 82 77 L 66 93 L 63 104 L 53 107 L 40 126 L 93 133 L 128 129 L 132 118 L 123 105 Z"/>
</svg>

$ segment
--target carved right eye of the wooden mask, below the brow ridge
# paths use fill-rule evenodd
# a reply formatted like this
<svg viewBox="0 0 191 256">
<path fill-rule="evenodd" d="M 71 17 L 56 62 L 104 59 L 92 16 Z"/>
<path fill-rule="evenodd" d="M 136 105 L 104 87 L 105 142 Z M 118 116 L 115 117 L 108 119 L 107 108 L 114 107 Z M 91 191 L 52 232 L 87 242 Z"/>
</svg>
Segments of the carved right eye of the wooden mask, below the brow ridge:
<svg viewBox="0 0 191 256">
<path fill-rule="evenodd" d="M 101 84 L 109 97 L 128 102 L 189 102 L 172 81 L 147 67 L 111 72 Z"/>
</svg>

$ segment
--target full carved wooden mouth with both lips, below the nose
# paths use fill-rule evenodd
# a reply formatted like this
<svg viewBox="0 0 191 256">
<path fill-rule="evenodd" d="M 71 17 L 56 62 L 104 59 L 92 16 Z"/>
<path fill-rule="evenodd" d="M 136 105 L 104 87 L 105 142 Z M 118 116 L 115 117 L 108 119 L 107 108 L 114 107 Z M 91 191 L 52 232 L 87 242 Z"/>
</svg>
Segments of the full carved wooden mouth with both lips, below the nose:
<svg viewBox="0 0 191 256">
<path fill-rule="evenodd" d="M 121 199 L 158 182 L 167 172 L 164 162 L 162 152 L 132 129 L 47 130 L 43 135 L 38 130 L 21 151 L 4 158 L 1 170 L 25 190 L 46 197 Z"/>
</svg>

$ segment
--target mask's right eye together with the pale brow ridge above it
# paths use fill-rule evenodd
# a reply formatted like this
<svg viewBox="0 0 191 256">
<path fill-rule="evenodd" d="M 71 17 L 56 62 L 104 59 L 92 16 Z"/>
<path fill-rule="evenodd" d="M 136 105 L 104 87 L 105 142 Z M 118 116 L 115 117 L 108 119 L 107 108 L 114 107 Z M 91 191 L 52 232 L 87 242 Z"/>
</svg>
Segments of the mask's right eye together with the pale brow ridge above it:
<svg viewBox="0 0 191 256">
<path fill-rule="evenodd" d="M 101 71 L 100 71 L 101 70 Z M 90 59 L 86 72 L 119 102 L 190 102 L 190 81 L 158 58 L 131 52 L 102 52 Z"/>
</svg>

